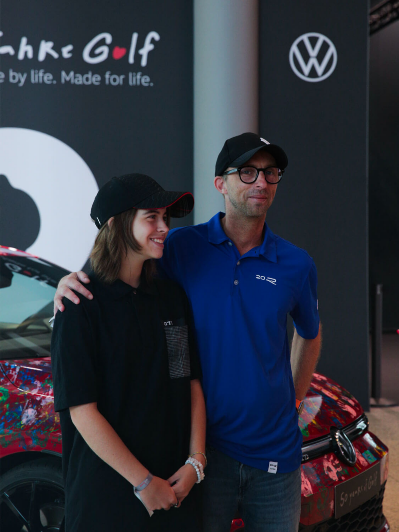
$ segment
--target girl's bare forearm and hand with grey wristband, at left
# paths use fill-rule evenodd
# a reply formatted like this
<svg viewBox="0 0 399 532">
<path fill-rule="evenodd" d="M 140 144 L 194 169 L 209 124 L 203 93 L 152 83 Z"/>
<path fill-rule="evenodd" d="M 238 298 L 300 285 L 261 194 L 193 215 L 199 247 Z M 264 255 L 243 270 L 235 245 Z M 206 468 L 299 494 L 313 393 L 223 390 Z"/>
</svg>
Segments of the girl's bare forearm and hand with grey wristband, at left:
<svg viewBox="0 0 399 532">
<path fill-rule="evenodd" d="M 73 425 L 87 445 L 133 486 L 138 486 L 148 475 L 148 469 L 129 451 L 110 423 L 97 410 L 97 403 L 72 406 Z M 177 497 L 167 480 L 153 477 L 140 497 L 149 510 L 169 510 L 177 504 Z"/>
</svg>

